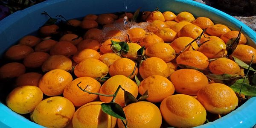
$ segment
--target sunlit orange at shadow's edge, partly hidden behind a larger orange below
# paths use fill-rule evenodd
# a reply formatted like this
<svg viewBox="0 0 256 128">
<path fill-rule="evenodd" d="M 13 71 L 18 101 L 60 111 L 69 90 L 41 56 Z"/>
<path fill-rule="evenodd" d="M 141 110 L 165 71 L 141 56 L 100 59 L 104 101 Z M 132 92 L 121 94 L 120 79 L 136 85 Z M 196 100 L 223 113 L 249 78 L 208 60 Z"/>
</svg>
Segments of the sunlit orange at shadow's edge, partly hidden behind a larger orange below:
<svg viewBox="0 0 256 128">
<path fill-rule="evenodd" d="M 76 52 L 76 54 L 73 56 L 73 60 L 76 63 L 79 63 L 87 58 L 99 59 L 99 57 L 100 57 L 99 52 L 93 49 L 83 49 L 81 51 Z"/>
</svg>

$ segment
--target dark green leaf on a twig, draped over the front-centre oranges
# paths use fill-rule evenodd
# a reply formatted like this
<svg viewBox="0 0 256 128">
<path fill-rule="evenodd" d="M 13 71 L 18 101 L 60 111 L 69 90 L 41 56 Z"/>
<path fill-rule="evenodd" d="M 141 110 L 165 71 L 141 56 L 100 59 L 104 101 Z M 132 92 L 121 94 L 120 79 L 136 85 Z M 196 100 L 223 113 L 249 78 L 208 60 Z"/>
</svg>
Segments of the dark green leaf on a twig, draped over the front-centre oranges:
<svg viewBox="0 0 256 128">
<path fill-rule="evenodd" d="M 102 111 L 107 113 L 110 116 L 119 118 L 119 119 L 126 119 L 125 113 L 120 105 L 115 102 L 110 103 L 102 103 Z"/>
</svg>

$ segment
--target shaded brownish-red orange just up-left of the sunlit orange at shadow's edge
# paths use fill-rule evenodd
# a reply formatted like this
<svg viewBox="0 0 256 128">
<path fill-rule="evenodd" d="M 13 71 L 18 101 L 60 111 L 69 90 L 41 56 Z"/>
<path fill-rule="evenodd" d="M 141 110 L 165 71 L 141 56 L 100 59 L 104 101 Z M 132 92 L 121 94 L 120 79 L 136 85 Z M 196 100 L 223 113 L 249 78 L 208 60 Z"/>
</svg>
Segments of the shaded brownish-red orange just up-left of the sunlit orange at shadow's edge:
<svg viewBox="0 0 256 128">
<path fill-rule="evenodd" d="M 51 55 L 65 55 L 70 57 L 76 54 L 77 48 L 70 41 L 59 41 L 50 50 Z"/>
</svg>

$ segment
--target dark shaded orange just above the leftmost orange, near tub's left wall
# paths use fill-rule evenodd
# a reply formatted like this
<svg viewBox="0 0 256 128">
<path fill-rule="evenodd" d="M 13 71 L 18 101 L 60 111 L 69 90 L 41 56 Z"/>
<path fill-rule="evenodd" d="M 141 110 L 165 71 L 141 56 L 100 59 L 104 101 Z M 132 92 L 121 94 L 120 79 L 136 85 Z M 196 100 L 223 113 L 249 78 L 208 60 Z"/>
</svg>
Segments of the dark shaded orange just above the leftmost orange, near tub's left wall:
<svg viewBox="0 0 256 128">
<path fill-rule="evenodd" d="M 28 47 L 23 44 L 17 44 L 12 47 L 10 47 L 6 53 L 5 57 L 12 61 L 19 61 L 25 58 L 30 53 L 34 52 L 34 50 L 31 47 Z"/>
</svg>

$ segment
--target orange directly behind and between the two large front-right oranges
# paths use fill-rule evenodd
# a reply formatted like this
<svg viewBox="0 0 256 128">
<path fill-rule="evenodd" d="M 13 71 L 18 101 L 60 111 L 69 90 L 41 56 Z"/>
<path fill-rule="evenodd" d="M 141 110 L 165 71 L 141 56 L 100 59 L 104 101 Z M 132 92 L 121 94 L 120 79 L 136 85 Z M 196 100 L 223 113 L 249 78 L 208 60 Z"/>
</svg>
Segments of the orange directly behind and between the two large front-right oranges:
<svg viewBox="0 0 256 128">
<path fill-rule="evenodd" d="M 172 73 L 170 80 L 177 93 L 196 95 L 204 86 L 209 84 L 207 77 L 194 69 L 180 69 Z"/>
</svg>

